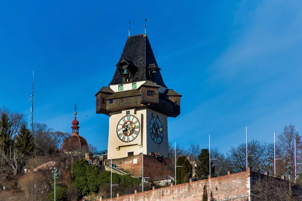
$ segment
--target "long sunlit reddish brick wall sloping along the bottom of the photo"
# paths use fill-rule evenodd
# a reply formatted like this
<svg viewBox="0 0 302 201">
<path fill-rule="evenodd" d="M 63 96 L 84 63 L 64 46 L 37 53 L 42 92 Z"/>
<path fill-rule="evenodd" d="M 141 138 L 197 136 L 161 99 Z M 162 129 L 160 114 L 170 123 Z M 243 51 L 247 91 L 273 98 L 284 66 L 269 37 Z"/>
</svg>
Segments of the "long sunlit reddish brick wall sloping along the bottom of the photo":
<svg viewBox="0 0 302 201">
<path fill-rule="evenodd" d="M 248 200 L 250 193 L 250 170 L 219 176 L 189 183 L 148 190 L 118 196 L 105 200 L 111 201 L 136 201 L 136 200 L 202 200 L 203 187 L 206 186 L 208 200 Z M 104 200 L 104 199 L 103 199 Z"/>
</svg>

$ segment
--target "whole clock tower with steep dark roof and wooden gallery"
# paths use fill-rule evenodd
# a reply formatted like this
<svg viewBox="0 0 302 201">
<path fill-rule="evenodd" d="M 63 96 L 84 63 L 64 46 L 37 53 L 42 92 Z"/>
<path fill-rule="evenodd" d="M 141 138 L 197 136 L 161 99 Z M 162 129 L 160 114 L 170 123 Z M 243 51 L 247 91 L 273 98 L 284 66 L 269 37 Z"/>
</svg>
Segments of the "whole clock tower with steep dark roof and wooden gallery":
<svg viewBox="0 0 302 201">
<path fill-rule="evenodd" d="M 149 152 L 168 156 L 168 117 L 180 114 L 181 95 L 168 89 L 148 37 L 129 36 L 96 113 L 109 116 L 108 158 Z M 173 74 L 173 72 L 171 72 Z"/>
</svg>

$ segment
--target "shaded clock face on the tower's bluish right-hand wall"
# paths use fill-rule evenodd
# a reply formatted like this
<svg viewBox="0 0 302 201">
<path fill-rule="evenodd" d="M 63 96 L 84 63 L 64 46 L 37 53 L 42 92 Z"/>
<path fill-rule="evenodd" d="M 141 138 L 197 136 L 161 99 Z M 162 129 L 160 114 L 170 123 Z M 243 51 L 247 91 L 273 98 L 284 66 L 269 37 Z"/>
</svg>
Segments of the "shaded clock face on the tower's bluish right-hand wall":
<svg viewBox="0 0 302 201">
<path fill-rule="evenodd" d="M 149 123 L 149 133 L 156 144 L 161 144 L 164 138 L 164 129 L 162 122 L 157 117 L 152 117 Z"/>
</svg>

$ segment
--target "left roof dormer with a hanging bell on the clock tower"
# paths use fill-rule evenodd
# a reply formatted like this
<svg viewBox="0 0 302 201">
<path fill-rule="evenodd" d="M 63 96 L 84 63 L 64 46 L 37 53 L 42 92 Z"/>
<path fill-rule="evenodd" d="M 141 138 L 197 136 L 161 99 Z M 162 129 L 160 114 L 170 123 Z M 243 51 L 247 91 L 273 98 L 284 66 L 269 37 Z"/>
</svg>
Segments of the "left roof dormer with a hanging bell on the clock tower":
<svg viewBox="0 0 302 201">
<path fill-rule="evenodd" d="M 132 61 L 121 57 L 116 66 L 118 67 L 123 77 L 123 83 L 129 83 L 133 81 L 133 77 L 135 76 L 138 68 Z"/>
</svg>

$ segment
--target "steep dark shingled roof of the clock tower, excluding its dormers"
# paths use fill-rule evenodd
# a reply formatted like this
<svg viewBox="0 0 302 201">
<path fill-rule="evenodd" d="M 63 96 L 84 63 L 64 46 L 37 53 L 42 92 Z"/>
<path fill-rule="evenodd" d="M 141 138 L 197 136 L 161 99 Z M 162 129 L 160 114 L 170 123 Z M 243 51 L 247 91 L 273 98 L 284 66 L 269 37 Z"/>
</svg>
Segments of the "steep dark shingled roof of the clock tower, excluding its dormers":
<svg viewBox="0 0 302 201">
<path fill-rule="evenodd" d="M 134 82 L 144 80 L 152 81 L 147 68 L 154 66 L 158 69 L 157 73 L 155 73 L 154 82 L 167 87 L 162 78 L 160 68 L 158 67 L 147 36 L 144 36 L 143 34 L 129 36 L 124 46 L 121 58 L 131 61 L 137 66 L 138 71 L 133 77 Z M 123 77 L 117 67 L 109 85 L 122 83 Z"/>
</svg>

